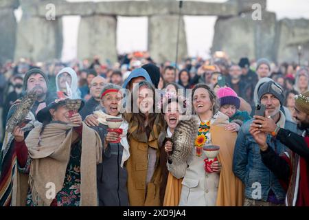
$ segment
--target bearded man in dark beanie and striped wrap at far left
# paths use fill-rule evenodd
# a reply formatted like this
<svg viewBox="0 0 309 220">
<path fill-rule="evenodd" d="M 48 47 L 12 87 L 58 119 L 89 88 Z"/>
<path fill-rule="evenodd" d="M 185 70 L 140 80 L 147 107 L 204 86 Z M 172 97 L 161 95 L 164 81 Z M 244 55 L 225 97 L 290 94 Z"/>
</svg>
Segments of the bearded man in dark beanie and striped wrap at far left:
<svg viewBox="0 0 309 220">
<path fill-rule="evenodd" d="M 55 100 L 56 96 L 52 96 L 48 93 L 47 86 L 48 78 L 41 69 L 30 69 L 30 71 L 25 74 L 23 92 L 25 94 L 35 92 L 37 98 L 30 112 L 25 117 L 27 121 L 25 121 L 23 125 L 16 126 L 14 131 L 16 128 L 19 128 L 21 132 L 24 133 L 25 137 L 27 137 L 28 133 L 30 133 L 37 123 L 36 113 Z M 19 107 L 19 104 L 20 100 L 17 100 L 12 105 L 8 113 L 7 122 Z M 22 152 L 16 150 L 13 133 L 7 133 L 5 137 L 5 142 L 3 142 L 0 154 L 0 206 L 16 206 L 23 204 L 25 201 L 16 201 L 17 193 L 22 192 L 14 188 L 16 184 L 14 185 L 13 182 L 21 181 L 21 184 L 23 184 L 23 181 L 27 181 L 27 177 L 22 175 L 25 173 L 25 170 L 19 166 L 16 160 L 16 157 L 21 155 Z"/>
</svg>

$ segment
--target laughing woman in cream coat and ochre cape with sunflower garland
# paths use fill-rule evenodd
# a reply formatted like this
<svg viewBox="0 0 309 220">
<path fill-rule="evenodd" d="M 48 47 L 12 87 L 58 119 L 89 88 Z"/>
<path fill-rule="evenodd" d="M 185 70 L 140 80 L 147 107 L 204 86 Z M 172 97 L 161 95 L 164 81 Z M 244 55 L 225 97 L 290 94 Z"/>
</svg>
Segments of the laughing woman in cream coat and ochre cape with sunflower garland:
<svg viewBox="0 0 309 220">
<path fill-rule="evenodd" d="M 216 102 L 216 94 L 207 85 L 194 87 L 192 104 L 200 137 L 196 138 L 196 148 L 214 144 L 220 146 L 220 151 L 218 161 L 213 163 L 196 148 L 185 162 L 169 160 L 168 170 L 174 177 L 183 178 L 179 206 L 242 206 L 242 183 L 232 171 L 236 133 L 225 131 L 229 118 L 218 111 Z"/>
</svg>

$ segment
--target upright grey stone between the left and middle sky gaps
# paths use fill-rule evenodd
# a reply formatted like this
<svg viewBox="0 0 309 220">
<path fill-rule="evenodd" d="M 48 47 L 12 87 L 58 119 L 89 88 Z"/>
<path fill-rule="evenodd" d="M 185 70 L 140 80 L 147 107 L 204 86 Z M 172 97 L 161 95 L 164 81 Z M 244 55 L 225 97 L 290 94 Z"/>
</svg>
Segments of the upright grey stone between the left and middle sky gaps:
<svg viewBox="0 0 309 220">
<path fill-rule="evenodd" d="M 82 17 L 78 31 L 78 58 L 91 59 L 100 56 L 100 61 L 117 61 L 117 20 L 111 16 L 95 15 Z"/>
</svg>

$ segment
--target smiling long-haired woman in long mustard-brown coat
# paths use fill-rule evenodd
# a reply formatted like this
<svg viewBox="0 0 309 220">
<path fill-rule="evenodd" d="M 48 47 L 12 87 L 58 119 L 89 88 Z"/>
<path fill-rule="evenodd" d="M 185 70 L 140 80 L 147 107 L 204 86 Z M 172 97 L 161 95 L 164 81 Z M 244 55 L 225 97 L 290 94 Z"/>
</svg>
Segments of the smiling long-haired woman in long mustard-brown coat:
<svg viewBox="0 0 309 220">
<path fill-rule="evenodd" d="M 129 203 L 130 206 L 160 206 L 158 137 L 164 129 L 164 119 L 161 113 L 155 113 L 157 102 L 153 85 L 141 81 L 133 89 L 131 103 L 133 113 L 125 113 L 130 145 L 130 157 L 126 164 Z"/>
</svg>

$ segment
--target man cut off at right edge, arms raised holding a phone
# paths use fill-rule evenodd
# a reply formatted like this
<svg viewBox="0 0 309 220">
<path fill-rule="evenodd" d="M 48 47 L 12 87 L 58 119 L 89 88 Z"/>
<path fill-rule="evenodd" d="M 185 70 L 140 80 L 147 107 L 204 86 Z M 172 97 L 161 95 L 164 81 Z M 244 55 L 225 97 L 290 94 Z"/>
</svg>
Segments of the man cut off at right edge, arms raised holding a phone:
<svg viewBox="0 0 309 220">
<path fill-rule="evenodd" d="M 259 116 L 255 117 L 250 133 L 260 146 L 263 163 L 287 188 L 286 206 L 309 206 L 309 91 L 295 96 L 293 117 L 297 127 L 304 131 L 302 135 L 279 128 L 272 119 Z M 288 151 L 277 155 L 266 144 L 267 133 L 288 146 Z"/>
</svg>

